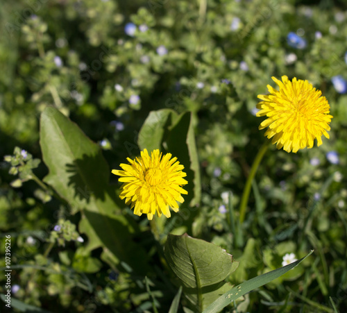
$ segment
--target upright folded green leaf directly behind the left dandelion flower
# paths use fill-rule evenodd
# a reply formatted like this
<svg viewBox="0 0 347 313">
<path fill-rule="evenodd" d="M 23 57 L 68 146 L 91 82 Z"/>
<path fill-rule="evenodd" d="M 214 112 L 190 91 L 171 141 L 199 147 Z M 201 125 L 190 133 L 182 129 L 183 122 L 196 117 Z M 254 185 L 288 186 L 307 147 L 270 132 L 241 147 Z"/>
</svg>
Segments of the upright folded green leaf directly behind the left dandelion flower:
<svg viewBox="0 0 347 313">
<path fill-rule="evenodd" d="M 149 113 L 144 125 L 139 131 L 137 140 L 141 150 L 154 149 L 164 150 L 177 157 L 184 165 L 187 173 L 188 185 L 185 186 L 188 194 L 185 196 L 186 203 L 194 206 L 201 198 L 200 169 L 198 164 L 198 153 L 194 137 L 194 126 L 192 114 L 185 112 L 177 115 L 170 109 L 162 109 Z"/>
</svg>

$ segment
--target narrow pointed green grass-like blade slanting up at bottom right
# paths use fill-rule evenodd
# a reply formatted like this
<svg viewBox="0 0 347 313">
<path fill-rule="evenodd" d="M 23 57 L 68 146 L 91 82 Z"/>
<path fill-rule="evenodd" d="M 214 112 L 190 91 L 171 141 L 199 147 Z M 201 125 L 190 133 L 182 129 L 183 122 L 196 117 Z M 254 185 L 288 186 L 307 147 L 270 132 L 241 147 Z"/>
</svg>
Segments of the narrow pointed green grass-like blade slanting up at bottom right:
<svg viewBox="0 0 347 313">
<path fill-rule="evenodd" d="M 206 308 L 206 310 L 203 311 L 203 313 L 220 312 L 224 307 L 229 305 L 232 301 L 235 301 L 237 298 L 244 296 L 244 294 L 247 294 L 249 291 L 259 288 L 262 285 L 265 285 L 268 282 L 271 282 L 271 280 L 274 280 L 282 276 L 283 274 L 287 273 L 287 271 L 296 267 L 296 265 L 298 265 L 300 262 L 305 260 L 305 258 L 311 255 L 312 253 L 313 253 L 313 250 L 309 254 L 307 254 L 305 257 L 289 265 L 286 265 L 285 267 L 280 267 L 280 269 L 275 269 L 274 271 L 270 271 L 269 273 L 264 273 L 260 276 L 247 280 L 246 282 L 242 282 L 242 284 L 236 287 L 233 287 L 228 292 L 220 296 L 216 301 L 214 301 L 214 303 L 209 305 Z"/>
</svg>

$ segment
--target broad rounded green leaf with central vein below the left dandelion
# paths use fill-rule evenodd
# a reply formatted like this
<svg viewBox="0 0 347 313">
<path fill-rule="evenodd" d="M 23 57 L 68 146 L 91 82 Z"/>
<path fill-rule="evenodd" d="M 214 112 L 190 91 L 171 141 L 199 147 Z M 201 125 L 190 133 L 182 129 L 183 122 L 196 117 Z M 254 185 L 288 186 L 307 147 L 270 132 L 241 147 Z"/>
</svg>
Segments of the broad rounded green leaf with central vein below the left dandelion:
<svg viewBox="0 0 347 313">
<path fill-rule="evenodd" d="M 224 280 L 232 271 L 232 255 L 219 246 L 187 234 L 169 234 L 164 255 L 196 312 L 230 289 Z"/>
</svg>

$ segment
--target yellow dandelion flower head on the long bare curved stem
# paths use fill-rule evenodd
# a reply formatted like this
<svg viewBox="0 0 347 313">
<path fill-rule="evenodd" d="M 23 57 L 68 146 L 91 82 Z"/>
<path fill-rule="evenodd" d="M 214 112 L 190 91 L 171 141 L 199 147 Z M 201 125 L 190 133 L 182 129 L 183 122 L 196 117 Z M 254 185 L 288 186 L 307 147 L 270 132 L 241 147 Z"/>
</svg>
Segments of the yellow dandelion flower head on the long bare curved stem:
<svg viewBox="0 0 347 313">
<path fill-rule="evenodd" d="M 316 90 L 308 81 L 292 81 L 287 76 L 282 76 L 282 81 L 272 77 L 280 87 L 276 90 L 267 85 L 270 94 L 258 95 L 262 101 L 257 104 L 260 109 L 257 117 L 266 116 L 259 129 L 269 126 L 265 136 L 272 138 L 272 143 L 277 144 L 277 149 L 296 153 L 299 149 L 312 148 L 314 139 L 317 146 L 322 144 L 321 136 L 329 138 L 330 105 L 321 96 L 321 90 Z"/>
</svg>

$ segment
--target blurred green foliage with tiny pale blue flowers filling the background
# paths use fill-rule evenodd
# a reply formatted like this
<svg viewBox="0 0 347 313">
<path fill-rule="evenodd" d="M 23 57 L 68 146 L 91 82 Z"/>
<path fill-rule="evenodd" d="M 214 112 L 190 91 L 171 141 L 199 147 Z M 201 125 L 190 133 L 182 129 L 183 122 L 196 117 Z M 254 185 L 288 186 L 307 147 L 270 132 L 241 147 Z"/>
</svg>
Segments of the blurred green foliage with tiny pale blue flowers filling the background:
<svg viewBox="0 0 347 313">
<path fill-rule="evenodd" d="M 299 259 L 315 250 L 300 267 L 238 301 L 237 312 L 333 312 L 329 297 L 345 312 L 347 109 L 331 78 L 347 79 L 346 9 L 344 1 L 331 0 L 2 1 L 0 228 L 12 237 L 12 286 L 19 286 L 12 297 L 50 312 L 168 312 L 178 286 L 161 244 L 169 232 L 188 231 L 239 261 L 228 278 L 232 285 L 281 267 L 286 253 Z M 307 41 L 304 49 L 289 46 L 289 32 Z M 266 140 L 254 116 L 257 94 L 273 85 L 271 76 L 284 74 L 307 79 L 327 97 L 330 140 L 296 154 L 271 146 L 239 225 L 239 198 Z M 100 243 L 87 211 L 77 210 L 52 180 L 42 182 L 58 162 L 40 162 L 47 105 L 99 144 L 103 155 L 92 143 L 90 149 L 105 162 L 98 162 L 102 169 L 118 169 L 139 154 L 150 111 L 190 112 L 201 201 L 160 219 L 158 233 L 116 199 L 117 178 L 110 187 L 101 175 L 107 179 L 100 186 L 113 192 L 105 210 L 130 229 L 131 237 L 119 235 L 131 238 L 125 244 L 146 251 L 146 273 L 117 260 L 107 247 L 119 237 Z M 49 138 L 46 150 L 62 153 Z M 337 164 L 329 151 L 337 151 Z M 90 164 L 97 185 L 99 171 L 93 174 Z M 81 193 L 71 197 L 84 201 Z M 128 257 L 140 268 L 145 263 L 135 251 Z M 183 294 L 179 312 L 185 305 Z"/>
</svg>

